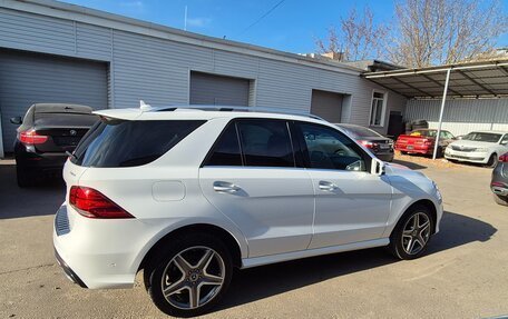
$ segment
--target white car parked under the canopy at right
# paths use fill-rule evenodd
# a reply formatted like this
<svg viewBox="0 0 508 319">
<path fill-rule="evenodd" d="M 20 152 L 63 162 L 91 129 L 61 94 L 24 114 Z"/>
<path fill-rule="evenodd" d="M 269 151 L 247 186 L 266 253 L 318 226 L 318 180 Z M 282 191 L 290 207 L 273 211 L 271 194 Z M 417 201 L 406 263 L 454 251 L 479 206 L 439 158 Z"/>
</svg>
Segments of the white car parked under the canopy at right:
<svg viewBox="0 0 508 319">
<path fill-rule="evenodd" d="M 471 133 L 494 133 L 499 134 L 500 138 L 496 142 L 476 141 L 467 139 L 453 141 L 450 144 L 448 144 L 447 149 L 444 150 L 444 158 L 457 161 L 467 161 L 486 165 L 492 156 L 495 158 L 498 158 L 499 156 L 508 151 L 508 144 L 501 144 L 501 142 L 507 141 L 508 132 L 475 131 Z"/>
</svg>

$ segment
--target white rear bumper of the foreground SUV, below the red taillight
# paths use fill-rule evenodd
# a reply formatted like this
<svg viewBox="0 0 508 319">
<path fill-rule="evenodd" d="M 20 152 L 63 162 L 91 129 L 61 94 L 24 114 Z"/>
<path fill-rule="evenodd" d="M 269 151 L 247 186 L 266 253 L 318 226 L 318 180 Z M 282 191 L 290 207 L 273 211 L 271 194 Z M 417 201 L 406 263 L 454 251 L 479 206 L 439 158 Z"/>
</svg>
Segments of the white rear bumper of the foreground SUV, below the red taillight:
<svg viewBox="0 0 508 319">
<path fill-rule="evenodd" d="M 89 219 L 62 205 L 55 217 L 55 255 L 81 287 L 133 288 L 143 257 L 165 227 L 160 219 Z"/>
</svg>

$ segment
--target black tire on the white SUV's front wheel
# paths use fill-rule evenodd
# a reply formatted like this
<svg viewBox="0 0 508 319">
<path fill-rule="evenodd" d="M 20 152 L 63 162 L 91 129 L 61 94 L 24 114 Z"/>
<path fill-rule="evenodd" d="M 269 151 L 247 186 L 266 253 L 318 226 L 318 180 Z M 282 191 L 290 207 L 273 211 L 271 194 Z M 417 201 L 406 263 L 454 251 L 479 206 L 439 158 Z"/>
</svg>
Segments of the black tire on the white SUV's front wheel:
<svg viewBox="0 0 508 319">
<path fill-rule="evenodd" d="M 413 218 L 417 216 L 419 219 L 419 226 L 417 229 L 411 229 L 414 221 Z M 424 227 L 424 221 L 428 221 L 427 227 Z M 430 238 L 432 237 L 433 229 L 434 220 L 430 210 L 426 206 L 414 205 L 406 211 L 397 223 L 390 236 L 390 245 L 388 248 L 398 259 L 411 260 L 419 258 L 426 252 Z M 418 235 L 420 236 L 419 238 Z M 408 238 L 412 238 L 411 240 L 414 241 L 412 246 Z M 423 245 L 420 245 L 420 241 L 423 241 Z M 408 251 L 408 248 L 411 249 Z"/>
</svg>

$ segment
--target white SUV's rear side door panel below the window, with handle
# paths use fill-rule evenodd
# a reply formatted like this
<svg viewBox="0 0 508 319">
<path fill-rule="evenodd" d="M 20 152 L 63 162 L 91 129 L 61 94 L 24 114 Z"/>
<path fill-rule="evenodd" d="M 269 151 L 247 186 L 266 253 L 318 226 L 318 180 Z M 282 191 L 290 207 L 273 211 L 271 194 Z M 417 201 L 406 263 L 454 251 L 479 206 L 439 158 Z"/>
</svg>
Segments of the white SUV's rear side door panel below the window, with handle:
<svg viewBox="0 0 508 319">
<path fill-rule="evenodd" d="M 314 191 L 304 169 L 204 167 L 199 183 L 208 201 L 243 231 L 248 257 L 307 248 Z"/>
</svg>

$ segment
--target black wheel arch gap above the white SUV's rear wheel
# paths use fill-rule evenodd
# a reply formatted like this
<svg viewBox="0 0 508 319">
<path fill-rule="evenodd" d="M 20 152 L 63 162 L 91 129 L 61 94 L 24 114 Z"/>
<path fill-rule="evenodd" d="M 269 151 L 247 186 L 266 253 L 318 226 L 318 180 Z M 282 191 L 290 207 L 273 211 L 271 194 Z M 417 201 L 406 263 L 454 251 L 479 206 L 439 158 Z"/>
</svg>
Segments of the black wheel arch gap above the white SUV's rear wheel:
<svg viewBox="0 0 508 319">
<path fill-rule="evenodd" d="M 237 239 L 227 230 L 225 230 L 222 227 L 212 225 L 212 223 L 193 223 L 193 225 L 187 225 L 183 226 L 179 228 L 176 228 L 174 230 L 170 230 L 167 232 L 165 236 L 163 236 L 160 239 L 158 239 L 152 247 L 150 249 L 145 253 L 145 256 L 141 259 L 141 262 L 139 263 L 138 271 L 141 269 L 145 269 L 147 265 L 150 262 L 154 262 L 157 257 L 157 251 L 162 250 L 163 247 L 167 243 L 170 242 L 170 240 L 175 237 L 178 237 L 183 233 L 188 233 L 188 232 L 205 232 L 213 235 L 221 239 L 224 245 L 226 245 L 228 251 L 231 252 L 232 259 L 233 259 L 233 266 L 241 268 L 242 267 L 242 248 Z"/>
</svg>

